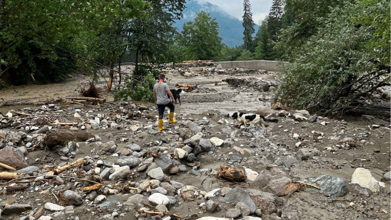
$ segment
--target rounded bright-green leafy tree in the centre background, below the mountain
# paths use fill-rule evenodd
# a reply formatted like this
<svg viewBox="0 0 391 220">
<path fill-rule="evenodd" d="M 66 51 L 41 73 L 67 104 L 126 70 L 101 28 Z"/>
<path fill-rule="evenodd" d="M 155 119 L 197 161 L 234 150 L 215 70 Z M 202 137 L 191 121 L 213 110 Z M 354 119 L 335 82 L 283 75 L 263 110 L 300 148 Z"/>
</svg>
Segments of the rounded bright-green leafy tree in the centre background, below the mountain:
<svg viewBox="0 0 391 220">
<path fill-rule="evenodd" d="M 222 39 L 218 36 L 218 23 L 210 17 L 210 13 L 198 13 L 194 22 L 183 25 L 182 35 L 186 60 L 215 60 L 220 56 Z"/>
</svg>

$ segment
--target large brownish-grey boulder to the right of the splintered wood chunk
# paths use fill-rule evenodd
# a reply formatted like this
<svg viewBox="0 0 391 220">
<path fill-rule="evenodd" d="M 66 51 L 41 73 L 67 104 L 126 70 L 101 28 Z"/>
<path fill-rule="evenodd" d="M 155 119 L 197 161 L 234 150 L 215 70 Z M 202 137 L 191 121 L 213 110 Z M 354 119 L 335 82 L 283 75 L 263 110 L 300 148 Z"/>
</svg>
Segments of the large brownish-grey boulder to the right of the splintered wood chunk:
<svg viewBox="0 0 391 220">
<path fill-rule="evenodd" d="M 261 171 L 254 180 L 252 187 L 277 196 L 284 196 L 284 187 L 291 182 L 292 178 L 289 175 L 285 174 L 276 165 L 270 165 Z"/>
</svg>

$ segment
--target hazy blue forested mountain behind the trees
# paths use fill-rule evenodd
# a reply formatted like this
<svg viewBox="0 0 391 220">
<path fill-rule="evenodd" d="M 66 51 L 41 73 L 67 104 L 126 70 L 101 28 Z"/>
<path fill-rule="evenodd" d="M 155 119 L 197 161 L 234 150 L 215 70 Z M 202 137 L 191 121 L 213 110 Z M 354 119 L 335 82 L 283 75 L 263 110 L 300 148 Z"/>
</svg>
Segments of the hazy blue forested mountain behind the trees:
<svg viewBox="0 0 391 220">
<path fill-rule="evenodd" d="M 211 14 L 212 18 L 216 18 L 216 22 L 220 27 L 219 35 L 223 38 L 222 43 L 229 47 L 235 47 L 243 44 L 243 31 L 242 21 L 238 18 L 223 11 L 220 7 L 209 2 L 198 2 L 196 0 L 190 0 L 186 3 L 186 9 L 183 11 L 183 18 L 175 21 L 174 27 L 177 27 L 179 31 L 182 31 L 182 26 L 186 22 L 194 21 L 196 13 L 205 11 Z M 257 33 L 259 26 L 254 27 L 255 33 Z M 253 35 L 255 36 L 255 34 Z"/>
</svg>

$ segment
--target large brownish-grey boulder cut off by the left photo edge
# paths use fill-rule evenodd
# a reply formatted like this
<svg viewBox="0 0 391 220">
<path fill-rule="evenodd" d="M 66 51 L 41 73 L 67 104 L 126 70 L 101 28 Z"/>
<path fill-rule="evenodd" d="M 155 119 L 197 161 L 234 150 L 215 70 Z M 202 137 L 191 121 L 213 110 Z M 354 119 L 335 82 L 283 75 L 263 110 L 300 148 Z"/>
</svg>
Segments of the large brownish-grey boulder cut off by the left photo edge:
<svg viewBox="0 0 391 220">
<path fill-rule="evenodd" d="M 28 166 L 23 153 L 11 146 L 6 146 L 0 150 L 0 163 L 6 164 L 17 170 Z"/>
</svg>

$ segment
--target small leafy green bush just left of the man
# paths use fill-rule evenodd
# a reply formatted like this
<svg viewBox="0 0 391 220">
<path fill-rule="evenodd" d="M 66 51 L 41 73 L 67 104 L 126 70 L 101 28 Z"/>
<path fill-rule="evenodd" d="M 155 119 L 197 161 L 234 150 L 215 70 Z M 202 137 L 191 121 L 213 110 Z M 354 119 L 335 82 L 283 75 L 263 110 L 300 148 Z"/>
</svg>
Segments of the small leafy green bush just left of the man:
<svg viewBox="0 0 391 220">
<path fill-rule="evenodd" d="M 154 102 L 153 98 L 153 86 L 155 85 L 156 80 L 153 76 L 153 73 L 148 73 L 141 82 L 135 83 L 134 79 L 127 76 L 125 78 L 125 88 L 119 90 L 115 96 L 114 100 L 128 100 L 129 98 L 136 101 L 148 101 Z"/>
</svg>

